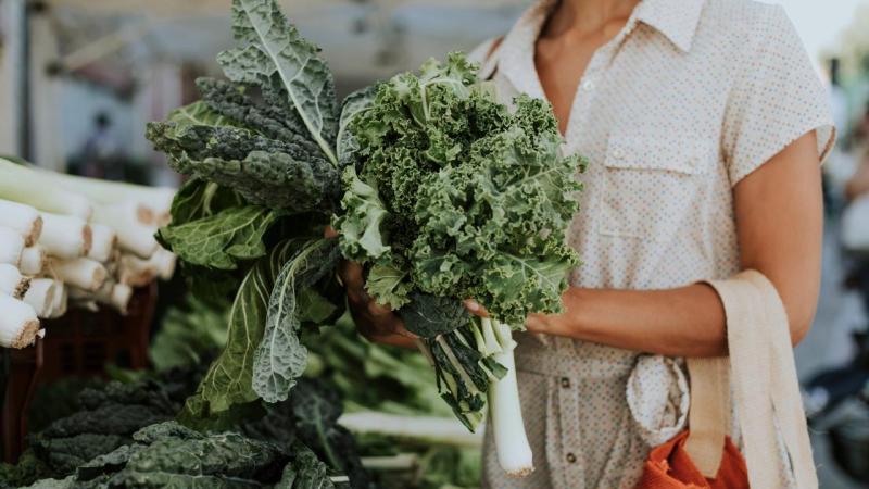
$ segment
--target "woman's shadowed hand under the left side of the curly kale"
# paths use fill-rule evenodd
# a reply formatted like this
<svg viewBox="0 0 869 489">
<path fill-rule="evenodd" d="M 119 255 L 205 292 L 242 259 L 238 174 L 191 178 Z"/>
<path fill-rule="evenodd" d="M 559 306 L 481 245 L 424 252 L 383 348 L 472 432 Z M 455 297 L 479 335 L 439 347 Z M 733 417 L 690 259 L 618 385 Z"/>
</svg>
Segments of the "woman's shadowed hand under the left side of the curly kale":
<svg viewBox="0 0 869 489">
<path fill-rule="evenodd" d="M 350 313 L 364 337 L 378 343 L 416 349 L 416 336 L 404 327 L 398 314 L 388 305 L 378 304 L 365 291 L 362 266 L 344 261 L 338 275 L 347 289 Z"/>
</svg>

